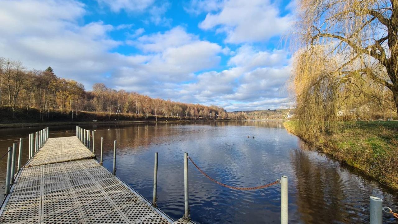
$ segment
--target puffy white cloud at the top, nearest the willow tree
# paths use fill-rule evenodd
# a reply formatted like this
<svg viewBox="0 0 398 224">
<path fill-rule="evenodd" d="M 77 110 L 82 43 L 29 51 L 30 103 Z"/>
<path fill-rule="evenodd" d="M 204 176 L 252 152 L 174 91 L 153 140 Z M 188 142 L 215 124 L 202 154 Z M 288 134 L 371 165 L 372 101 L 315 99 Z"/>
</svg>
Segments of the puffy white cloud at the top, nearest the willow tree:
<svg viewBox="0 0 398 224">
<path fill-rule="evenodd" d="M 246 43 L 280 35 L 291 20 L 291 15 L 280 16 L 269 0 L 227 0 L 217 13 L 209 12 L 199 28 L 226 33 L 226 43 Z"/>
</svg>

